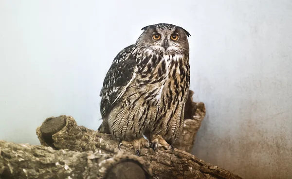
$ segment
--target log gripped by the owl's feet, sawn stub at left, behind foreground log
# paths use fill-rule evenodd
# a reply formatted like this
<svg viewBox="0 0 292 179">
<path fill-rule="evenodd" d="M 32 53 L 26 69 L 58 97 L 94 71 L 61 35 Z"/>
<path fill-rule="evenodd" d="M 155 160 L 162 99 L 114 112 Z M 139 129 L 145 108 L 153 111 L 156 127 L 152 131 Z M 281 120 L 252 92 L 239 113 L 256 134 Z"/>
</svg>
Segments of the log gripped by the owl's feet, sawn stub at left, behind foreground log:
<svg viewBox="0 0 292 179">
<path fill-rule="evenodd" d="M 51 122 L 50 122 L 51 121 Z M 66 125 L 55 134 L 52 135 L 49 143 L 44 139 L 42 130 L 48 129 L 52 123 L 63 123 Z M 49 125 L 50 124 L 50 125 Z M 54 124 L 52 126 L 55 126 Z M 100 150 L 102 153 L 117 152 L 118 142 L 111 139 L 108 134 L 99 133 L 78 126 L 71 116 L 59 116 L 57 118 L 48 118 L 41 127 L 37 128 L 37 135 L 43 145 L 50 145 L 55 149 L 68 148 L 76 151 L 87 151 L 94 148 L 96 151 Z M 88 137 L 84 137 L 88 136 Z M 84 142 L 86 141 L 86 142 Z M 68 144 L 70 143 L 70 145 Z M 88 147 L 83 146 L 83 143 L 88 143 Z M 133 149 L 123 147 L 122 150 L 128 154 L 134 154 Z M 183 179 L 239 179 L 237 175 L 230 173 L 217 166 L 212 166 L 195 156 L 179 150 L 165 151 L 160 149 L 154 152 L 152 149 L 144 148 L 141 150 L 141 159 L 149 161 L 154 176 L 160 179 L 164 178 L 183 178 Z"/>
</svg>

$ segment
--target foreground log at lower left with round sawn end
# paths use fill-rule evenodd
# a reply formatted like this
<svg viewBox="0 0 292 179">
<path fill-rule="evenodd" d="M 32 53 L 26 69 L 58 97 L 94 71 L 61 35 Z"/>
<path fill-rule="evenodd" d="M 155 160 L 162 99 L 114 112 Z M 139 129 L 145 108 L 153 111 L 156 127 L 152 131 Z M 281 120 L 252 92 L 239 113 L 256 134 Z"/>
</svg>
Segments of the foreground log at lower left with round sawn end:
<svg viewBox="0 0 292 179">
<path fill-rule="evenodd" d="M 147 179 L 151 176 L 149 162 L 123 151 L 75 152 L 0 141 L 0 179 Z"/>
</svg>

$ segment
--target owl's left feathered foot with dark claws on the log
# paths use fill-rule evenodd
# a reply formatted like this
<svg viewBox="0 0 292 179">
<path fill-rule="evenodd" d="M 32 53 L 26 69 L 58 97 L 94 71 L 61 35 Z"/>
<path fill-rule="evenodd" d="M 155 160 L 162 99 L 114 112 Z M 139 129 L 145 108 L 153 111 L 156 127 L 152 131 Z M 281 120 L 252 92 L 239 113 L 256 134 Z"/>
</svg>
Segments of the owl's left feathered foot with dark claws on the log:
<svg viewBox="0 0 292 179">
<path fill-rule="evenodd" d="M 141 148 L 153 148 L 153 144 L 146 140 L 144 137 L 140 139 L 136 139 L 133 141 L 121 141 L 119 143 L 119 149 L 121 150 L 121 146 L 124 145 L 126 147 L 134 146 L 135 153 L 140 157 L 140 150 Z"/>
</svg>

